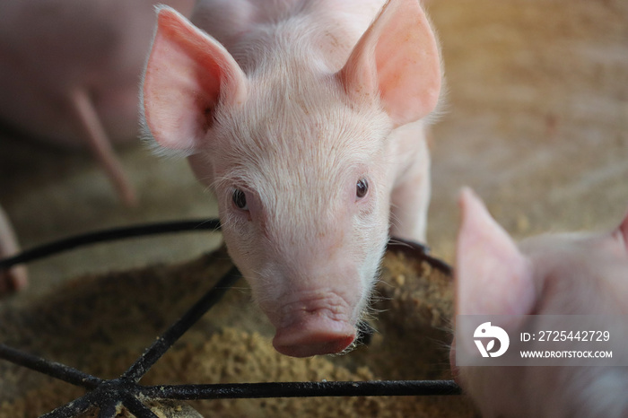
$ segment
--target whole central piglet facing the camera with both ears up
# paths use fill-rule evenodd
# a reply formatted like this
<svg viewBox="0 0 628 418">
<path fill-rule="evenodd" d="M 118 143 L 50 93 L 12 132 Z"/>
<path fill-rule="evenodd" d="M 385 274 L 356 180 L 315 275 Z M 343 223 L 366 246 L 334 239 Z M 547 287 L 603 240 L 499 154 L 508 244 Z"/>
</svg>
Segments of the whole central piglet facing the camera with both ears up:
<svg viewBox="0 0 628 418">
<path fill-rule="evenodd" d="M 424 240 L 440 83 L 417 0 L 201 1 L 191 22 L 161 8 L 147 139 L 214 192 L 280 353 L 345 350 L 388 231 Z"/>
</svg>

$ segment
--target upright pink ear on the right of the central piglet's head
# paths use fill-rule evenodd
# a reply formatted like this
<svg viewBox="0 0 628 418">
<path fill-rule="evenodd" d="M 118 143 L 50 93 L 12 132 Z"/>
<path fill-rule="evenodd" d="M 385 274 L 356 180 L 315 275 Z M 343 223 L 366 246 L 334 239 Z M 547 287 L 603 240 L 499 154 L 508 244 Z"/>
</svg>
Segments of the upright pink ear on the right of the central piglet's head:
<svg viewBox="0 0 628 418">
<path fill-rule="evenodd" d="M 338 77 L 365 100 L 378 94 L 396 126 L 427 116 L 440 94 L 440 54 L 417 0 L 389 0 Z"/>
</svg>

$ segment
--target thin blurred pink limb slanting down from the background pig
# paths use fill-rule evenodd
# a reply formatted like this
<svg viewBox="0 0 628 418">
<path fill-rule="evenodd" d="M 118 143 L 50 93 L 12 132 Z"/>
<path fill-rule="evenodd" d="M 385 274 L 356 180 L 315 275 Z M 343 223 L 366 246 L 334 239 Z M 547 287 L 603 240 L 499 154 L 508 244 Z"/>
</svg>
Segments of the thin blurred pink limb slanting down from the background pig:
<svg viewBox="0 0 628 418">
<path fill-rule="evenodd" d="M 122 201 L 129 206 L 135 205 L 135 191 L 126 179 L 122 165 L 113 151 L 87 91 L 83 89 L 72 91 L 70 101 L 96 160 L 107 171 L 109 179 L 118 190 L 118 195 Z"/>
</svg>

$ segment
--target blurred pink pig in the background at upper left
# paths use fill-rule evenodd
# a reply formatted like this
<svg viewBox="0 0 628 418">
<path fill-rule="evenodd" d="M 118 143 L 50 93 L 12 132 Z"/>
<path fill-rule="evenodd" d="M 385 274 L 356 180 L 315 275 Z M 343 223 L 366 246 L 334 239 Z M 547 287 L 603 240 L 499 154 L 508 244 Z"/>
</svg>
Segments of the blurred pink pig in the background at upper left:
<svg viewBox="0 0 628 418">
<path fill-rule="evenodd" d="M 135 203 L 112 144 L 137 140 L 137 85 L 151 46 L 154 5 L 190 13 L 193 0 L 0 2 L 0 120 L 29 137 L 87 147 L 123 202 Z M 18 249 L 0 214 L 0 257 Z M 23 268 L 0 289 L 25 285 Z"/>
</svg>

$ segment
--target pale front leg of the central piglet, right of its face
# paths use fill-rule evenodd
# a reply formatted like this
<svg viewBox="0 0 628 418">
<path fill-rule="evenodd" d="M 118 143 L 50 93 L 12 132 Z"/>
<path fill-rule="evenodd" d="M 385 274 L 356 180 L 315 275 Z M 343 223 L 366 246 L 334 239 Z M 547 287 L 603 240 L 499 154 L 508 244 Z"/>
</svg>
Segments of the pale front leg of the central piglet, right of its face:
<svg viewBox="0 0 628 418">
<path fill-rule="evenodd" d="M 390 201 L 390 235 L 424 243 L 430 205 L 430 154 L 424 138 L 412 166 L 397 180 Z"/>
</svg>

